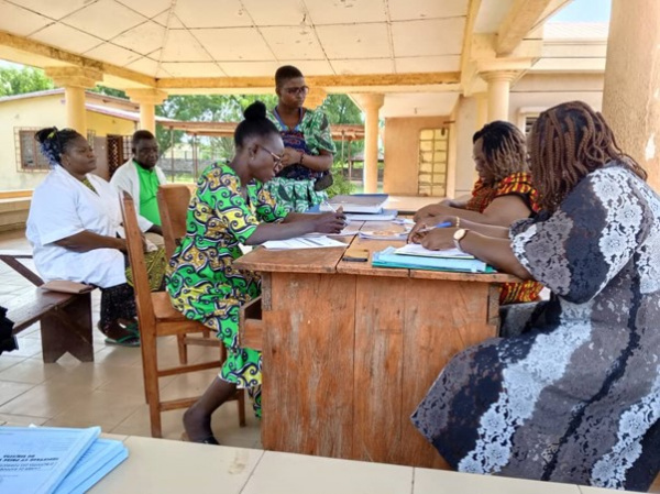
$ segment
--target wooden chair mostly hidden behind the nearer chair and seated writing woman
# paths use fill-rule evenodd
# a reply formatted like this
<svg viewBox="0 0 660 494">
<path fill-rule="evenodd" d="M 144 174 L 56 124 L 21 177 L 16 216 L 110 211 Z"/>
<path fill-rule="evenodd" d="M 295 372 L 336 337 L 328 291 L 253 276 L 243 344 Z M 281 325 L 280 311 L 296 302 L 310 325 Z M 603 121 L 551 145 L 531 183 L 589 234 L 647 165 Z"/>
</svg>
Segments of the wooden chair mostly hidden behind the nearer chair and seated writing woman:
<svg viewBox="0 0 660 494">
<path fill-rule="evenodd" d="M 186 234 L 186 217 L 188 204 L 190 202 L 190 189 L 184 184 L 165 184 L 158 187 L 156 195 L 158 211 L 161 212 L 161 224 L 163 228 L 163 240 L 165 241 L 165 255 L 169 260 Z M 222 342 L 210 337 L 210 331 L 205 329 L 202 338 L 177 336 L 179 362 L 188 363 L 188 344 L 204 347 L 220 347 L 224 351 Z M 224 355 L 223 359 L 224 360 Z"/>
</svg>

